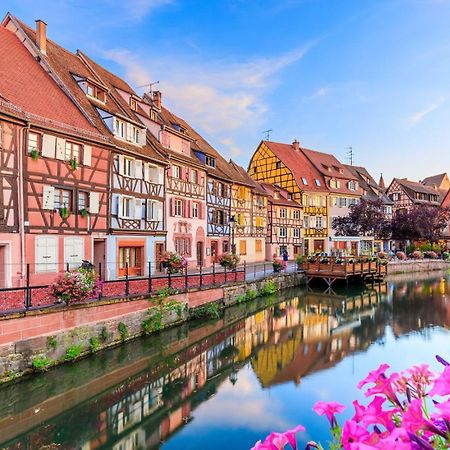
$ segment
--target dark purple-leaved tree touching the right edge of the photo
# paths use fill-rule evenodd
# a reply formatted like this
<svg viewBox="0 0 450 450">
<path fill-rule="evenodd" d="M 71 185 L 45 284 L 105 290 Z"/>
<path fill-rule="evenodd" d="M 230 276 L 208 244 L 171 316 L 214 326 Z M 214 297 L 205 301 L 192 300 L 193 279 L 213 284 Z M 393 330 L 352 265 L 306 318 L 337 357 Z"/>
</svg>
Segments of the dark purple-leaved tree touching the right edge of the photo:
<svg viewBox="0 0 450 450">
<path fill-rule="evenodd" d="M 417 205 L 409 211 L 397 212 L 392 219 L 392 237 L 403 241 L 426 239 L 439 241 L 450 220 L 450 208 Z"/>
</svg>

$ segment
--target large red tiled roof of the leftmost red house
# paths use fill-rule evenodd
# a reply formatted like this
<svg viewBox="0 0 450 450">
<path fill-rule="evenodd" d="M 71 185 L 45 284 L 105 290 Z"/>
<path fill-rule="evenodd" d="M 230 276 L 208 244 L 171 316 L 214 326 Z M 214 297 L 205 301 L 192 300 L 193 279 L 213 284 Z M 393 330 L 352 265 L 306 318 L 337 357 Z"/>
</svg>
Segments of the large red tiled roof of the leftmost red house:
<svg viewBox="0 0 450 450">
<path fill-rule="evenodd" d="M 0 95 L 24 112 L 85 131 L 96 131 L 18 37 L 1 26 Z"/>
</svg>

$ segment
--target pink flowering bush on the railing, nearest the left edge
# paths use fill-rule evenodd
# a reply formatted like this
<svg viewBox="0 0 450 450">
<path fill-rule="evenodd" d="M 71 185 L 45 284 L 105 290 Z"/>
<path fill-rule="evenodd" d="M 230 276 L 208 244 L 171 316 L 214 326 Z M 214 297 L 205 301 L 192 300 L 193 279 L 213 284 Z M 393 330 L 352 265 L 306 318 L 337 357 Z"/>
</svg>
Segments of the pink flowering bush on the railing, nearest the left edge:
<svg viewBox="0 0 450 450">
<path fill-rule="evenodd" d="M 50 294 L 69 305 L 95 297 L 99 289 L 95 270 L 80 268 L 61 275 L 50 287 Z"/>
</svg>

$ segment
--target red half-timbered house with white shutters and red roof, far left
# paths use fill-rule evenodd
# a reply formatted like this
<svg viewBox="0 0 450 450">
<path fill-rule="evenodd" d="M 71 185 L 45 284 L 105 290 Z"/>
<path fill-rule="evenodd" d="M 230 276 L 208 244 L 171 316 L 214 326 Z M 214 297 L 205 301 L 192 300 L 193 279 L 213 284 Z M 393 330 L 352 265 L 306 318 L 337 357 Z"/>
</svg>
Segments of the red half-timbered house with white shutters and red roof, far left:
<svg viewBox="0 0 450 450">
<path fill-rule="evenodd" d="M 0 79 L 2 110 L 19 119 L 2 126 L 3 142 L 17 155 L 2 171 L 19 173 L 14 274 L 24 280 L 28 272 L 31 283 L 46 283 L 67 266 L 92 260 L 94 239 L 106 237 L 108 149 L 49 74 L 42 21 L 37 31 L 39 43 L 9 15 L 0 27 L 0 70 L 8 73 Z"/>
</svg>

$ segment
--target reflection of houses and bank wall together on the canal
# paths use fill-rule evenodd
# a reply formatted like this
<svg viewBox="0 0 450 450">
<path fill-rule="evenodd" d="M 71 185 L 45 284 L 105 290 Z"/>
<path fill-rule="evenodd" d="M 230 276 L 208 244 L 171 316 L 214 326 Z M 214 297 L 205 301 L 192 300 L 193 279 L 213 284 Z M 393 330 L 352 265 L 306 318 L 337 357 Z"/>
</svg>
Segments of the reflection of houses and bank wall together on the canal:
<svg viewBox="0 0 450 450">
<path fill-rule="evenodd" d="M 159 448 L 244 366 L 260 390 L 299 385 L 367 351 L 387 326 L 399 337 L 449 325 L 448 280 L 440 277 L 333 296 L 288 291 L 3 388 L 0 441 L 11 450 Z"/>
</svg>

